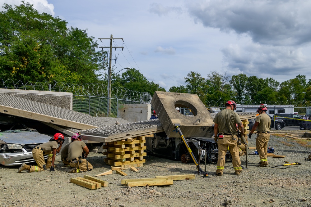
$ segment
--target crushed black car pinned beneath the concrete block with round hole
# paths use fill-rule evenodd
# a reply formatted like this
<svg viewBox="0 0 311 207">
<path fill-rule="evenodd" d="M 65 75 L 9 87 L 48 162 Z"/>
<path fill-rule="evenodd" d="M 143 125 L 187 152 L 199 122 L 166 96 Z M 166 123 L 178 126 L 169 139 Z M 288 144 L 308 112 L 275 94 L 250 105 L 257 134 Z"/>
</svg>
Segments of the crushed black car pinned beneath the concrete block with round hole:
<svg viewBox="0 0 311 207">
<path fill-rule="evenodd" d="M 218 145 L 211 137 L 186 138 L 191 151 L 197 160 L 205 161 L 205 150 L 207 152 L 207 163 L 217 162 Z M 183 163 L 192 162 L 188 150 L 181 138 L 167 137 L 165 132 L 156 133 L 154 137 L 146 137 L 146 151 L 148 154 L 159 155 L 171 160 L 181 160 Z M 200 159 L 199 154 L 201 151 Z M 226 160 L 232 160 L 229 151 Z"/>
</svg>

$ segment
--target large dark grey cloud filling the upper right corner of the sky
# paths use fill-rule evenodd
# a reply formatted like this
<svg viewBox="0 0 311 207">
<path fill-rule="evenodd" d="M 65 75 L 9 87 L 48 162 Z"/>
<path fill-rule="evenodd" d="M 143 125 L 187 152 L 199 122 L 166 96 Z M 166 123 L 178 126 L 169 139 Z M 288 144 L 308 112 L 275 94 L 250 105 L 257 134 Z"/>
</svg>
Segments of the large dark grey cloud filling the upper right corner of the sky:
<svg viewBox="0 0 311 207">
<path fill-rule="evenodd" d="M 211 0 L 188 3 L 189 14 L 205 27 L 248 34 L 268 45 L 311 41 L 311 2 L 304 0 Z"/>
</svg>

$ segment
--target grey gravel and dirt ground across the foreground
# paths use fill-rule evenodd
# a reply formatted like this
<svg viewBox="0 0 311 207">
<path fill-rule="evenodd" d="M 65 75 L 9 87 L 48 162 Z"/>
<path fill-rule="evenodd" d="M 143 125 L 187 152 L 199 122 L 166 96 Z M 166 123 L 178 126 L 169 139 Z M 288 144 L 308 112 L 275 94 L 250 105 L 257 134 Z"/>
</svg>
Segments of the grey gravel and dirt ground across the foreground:
<svg viewBox="0 0 311 207">
<path fill-rule="evenodd" d="M 299 143 L 300 142 L 300 143 Z M 183 164 L 164 158 L 146 156 L 146 163 L 139 173 L 124 170 L 128 176 L 118 174 L 100 176 L 108 181 L 108 187 L 89 190 L 70 183 L 70 178 L 94 176 L 110 169 L 104 164 L 104 156 L 90 153 L 87 158 L 94 169 L 78 174 L 64 172 L 60 156 L 56 157 L 55 172 L 16 173 L 18 167 L 0 165 L 1 206 L 309 206 L 311 207 L 311 162 L 306 161 L 311 151 L 311 141 L 299 141 L 271 136 L 268 146 L 276 155 L 268 157 L 270 167 L 256 167 L 258 155 L 248 155 L 248 169 L 241 176 L 234 175 L 231 162 L 226 162 L 223 176 L 215 176 L 216 163 L 207 165 L 211 178 L 196 175 L 193 180 L 174 181 L 165 187 L 125 187 L 125 178 L 154 178 L 161 175 L 193 173 L 193 163 Z M 255 146 L 255 137 L 249 145 Z M 248 153 L 254 150 L 248 150 Z M 245 166 L 245 156 L 241 157 Z M 275 169 L 271 166 L 301 162 L 301 165 Z M 201 165 L 205 169 L 204 165 Z M 226 203 L 226 204 L 225 204 Z"/>
</svg>

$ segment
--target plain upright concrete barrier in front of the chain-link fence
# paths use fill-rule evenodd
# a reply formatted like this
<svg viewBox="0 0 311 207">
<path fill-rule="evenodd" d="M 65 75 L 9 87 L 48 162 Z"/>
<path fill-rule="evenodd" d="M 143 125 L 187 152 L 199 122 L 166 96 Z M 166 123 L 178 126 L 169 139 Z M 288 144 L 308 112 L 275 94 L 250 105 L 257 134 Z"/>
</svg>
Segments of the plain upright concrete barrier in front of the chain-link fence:
<svg viewBox="0 0 311 207">
<path fill-rule="evenodd" d="M 129 122 L 145 121 L 151 117 L 150 104 L 119 104 L 118 117 Z"/>
</svg>

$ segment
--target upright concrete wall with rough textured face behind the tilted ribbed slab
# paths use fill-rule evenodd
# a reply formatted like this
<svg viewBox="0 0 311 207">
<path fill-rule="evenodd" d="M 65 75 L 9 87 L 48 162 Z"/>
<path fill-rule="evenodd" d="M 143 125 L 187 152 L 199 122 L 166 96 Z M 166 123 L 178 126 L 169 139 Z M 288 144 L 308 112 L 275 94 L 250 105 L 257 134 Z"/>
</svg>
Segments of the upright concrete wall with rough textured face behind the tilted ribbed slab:
<svg viewBox="0 0 311 207">
<path fill-rule="evenodd" d="M 72 110 L 72 93 L 18 89 L 0 89 L 1 93 L 7 93 L 16 97 L 25 98 L 31 101 L 50 104 Z"/>
</svg>

